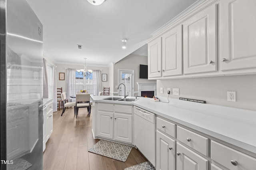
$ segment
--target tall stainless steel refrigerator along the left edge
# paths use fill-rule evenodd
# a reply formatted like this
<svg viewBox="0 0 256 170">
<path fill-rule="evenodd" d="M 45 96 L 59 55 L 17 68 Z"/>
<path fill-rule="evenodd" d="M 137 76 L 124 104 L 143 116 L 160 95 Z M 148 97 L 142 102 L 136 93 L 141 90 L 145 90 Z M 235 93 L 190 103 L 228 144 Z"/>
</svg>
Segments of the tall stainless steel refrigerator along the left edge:
<svg viewBox="0 0 256 170">
<path fill-rule="evenodd" d="M 27 0 L 0 0 L 0 169 L 40 170 L 43 27 Z"/>
</svg>

